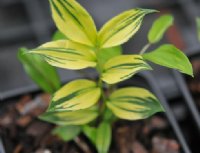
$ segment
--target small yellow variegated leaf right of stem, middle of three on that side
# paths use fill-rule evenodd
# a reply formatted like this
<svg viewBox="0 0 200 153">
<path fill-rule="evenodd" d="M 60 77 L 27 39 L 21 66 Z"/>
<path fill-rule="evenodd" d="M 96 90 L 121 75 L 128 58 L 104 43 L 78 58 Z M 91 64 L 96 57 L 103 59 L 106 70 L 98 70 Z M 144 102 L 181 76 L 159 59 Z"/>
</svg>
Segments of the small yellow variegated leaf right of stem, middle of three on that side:
<svg viewBox="0 0 200 153">
<path fill-rule="evenodd" d="M 130 78 L 139 71 L 150 69 L 140 55 L 120 55 L 105 63 L 102 80 L 114 84 Z"/>
</svg>

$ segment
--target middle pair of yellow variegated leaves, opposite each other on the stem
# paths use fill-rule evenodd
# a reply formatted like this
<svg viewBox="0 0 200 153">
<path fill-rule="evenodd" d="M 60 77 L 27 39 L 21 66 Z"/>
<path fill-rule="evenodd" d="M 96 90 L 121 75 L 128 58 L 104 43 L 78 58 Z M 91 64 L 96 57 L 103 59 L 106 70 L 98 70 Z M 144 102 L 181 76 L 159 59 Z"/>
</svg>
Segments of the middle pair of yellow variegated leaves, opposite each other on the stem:
<svg viewBox="0 0 200 153">
<path fill-rule="evenodd" d="M 103 49 L 96 56 L 91 47 L 70 40 L 58 40 L 33 49 L 31 53 L 42 55 L 53 66 L 68 69 L 95 67 L 98 58 L 103 69 L 102 80 L 109 84 L 128 79 L 141 70 L 151 69 L 142 56 L 120 55 L 121 51 L 118 49 L 115 52 L 115 48 Z"/>
</svg>

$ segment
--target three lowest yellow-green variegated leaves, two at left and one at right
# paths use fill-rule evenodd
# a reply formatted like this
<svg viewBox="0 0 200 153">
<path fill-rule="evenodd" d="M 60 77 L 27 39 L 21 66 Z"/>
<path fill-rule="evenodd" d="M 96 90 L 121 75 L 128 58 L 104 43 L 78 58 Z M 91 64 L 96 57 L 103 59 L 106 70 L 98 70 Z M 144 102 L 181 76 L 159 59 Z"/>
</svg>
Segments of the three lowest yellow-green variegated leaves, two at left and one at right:
<svg viewBox="0 0 200 153">
<path fill-rule="evenodd" d="M 95 119 L 98 112 L 94 106 L 101 95 L 96 83 L 76 80 L 57 91 L 41 119 L 58 125 L 81 125 Z M 142 88 L 122 88 L 113 92 L 107 107 L 119 118 L 136 120 L 163 111 L 153 94 Z"/>
</svg>

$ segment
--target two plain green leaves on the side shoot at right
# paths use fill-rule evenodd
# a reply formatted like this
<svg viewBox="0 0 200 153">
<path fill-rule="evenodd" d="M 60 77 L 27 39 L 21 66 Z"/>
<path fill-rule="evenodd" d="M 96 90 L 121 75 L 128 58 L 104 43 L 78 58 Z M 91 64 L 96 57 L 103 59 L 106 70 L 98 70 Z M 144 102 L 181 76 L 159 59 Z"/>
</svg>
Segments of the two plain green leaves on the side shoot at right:
<svg viewBox="0 0 200 153">
<path fill-rule="evenodd" d="M 163 15 L 159 17 L 152 25 L 148 33 L 150 44 L 159 42 L 166 30 L 173 24 L 173 16 Z M 192 65 L 187 56 L 175 46 L 165 44 L 159 48 L 142 55 L 145 60 L 155 64 L 165 66 L 193 76 Z"/>
</svg>

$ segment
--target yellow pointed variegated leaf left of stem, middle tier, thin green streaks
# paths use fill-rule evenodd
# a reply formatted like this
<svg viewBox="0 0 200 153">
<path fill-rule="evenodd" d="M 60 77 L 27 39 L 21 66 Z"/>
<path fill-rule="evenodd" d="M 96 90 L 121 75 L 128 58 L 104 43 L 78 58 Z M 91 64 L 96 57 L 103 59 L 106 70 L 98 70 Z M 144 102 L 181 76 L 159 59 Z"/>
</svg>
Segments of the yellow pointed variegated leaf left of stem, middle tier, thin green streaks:
<svg viewBox="0 0 200 153">
<path fill-rule="evenodd" d="M 49 42 L 30 53 L 40 54 L 49 64 L 60 68 L 76 70 L 96 66 L 94 51 L 70 40 Z"/>
</svg>

